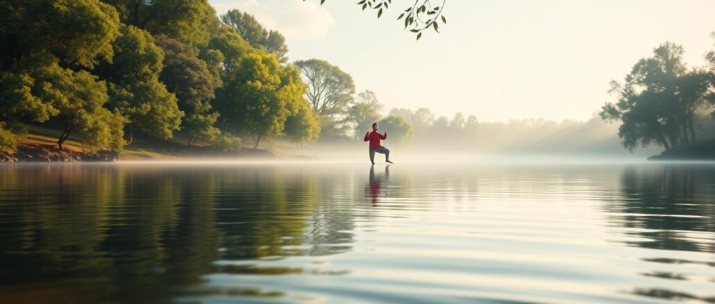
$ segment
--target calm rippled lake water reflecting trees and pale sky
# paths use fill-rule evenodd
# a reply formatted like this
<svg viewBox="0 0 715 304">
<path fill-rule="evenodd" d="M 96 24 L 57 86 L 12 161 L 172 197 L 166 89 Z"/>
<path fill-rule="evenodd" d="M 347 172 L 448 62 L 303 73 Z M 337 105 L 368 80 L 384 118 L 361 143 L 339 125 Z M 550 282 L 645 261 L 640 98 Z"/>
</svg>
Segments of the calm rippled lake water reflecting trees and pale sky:
<svg viewBox="0 0 715 304">
<path fill-rule="evenodd" d="M 0 303 L 715 302 L 715 165 L 0 165 Z"/>
</svg>

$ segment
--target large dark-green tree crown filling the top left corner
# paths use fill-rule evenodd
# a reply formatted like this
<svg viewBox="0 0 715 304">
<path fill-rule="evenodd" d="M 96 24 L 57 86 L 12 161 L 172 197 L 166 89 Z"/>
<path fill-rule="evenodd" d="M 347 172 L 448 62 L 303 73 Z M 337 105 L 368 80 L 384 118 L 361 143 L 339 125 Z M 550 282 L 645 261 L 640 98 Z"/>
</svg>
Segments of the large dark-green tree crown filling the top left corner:
<svg viewBox="0 0 715 304">
<path fill-rule="evenodd" d="M 112 59 L 119 16 L 97 0 L 2 1 L 0 71 L 39 52 L 69 67 L 93 67 Z M 92 26 L 87 26 L 92 24 Z"/>
</svg>

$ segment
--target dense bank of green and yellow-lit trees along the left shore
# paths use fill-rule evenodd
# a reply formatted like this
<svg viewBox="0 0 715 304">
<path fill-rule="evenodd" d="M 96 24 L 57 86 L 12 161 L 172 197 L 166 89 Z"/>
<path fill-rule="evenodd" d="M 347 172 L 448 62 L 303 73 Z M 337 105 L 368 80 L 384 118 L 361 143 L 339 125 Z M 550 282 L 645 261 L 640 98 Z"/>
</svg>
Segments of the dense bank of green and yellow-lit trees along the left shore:
<svg viewBox="0 0 715 304">
<path fill-rule="evenodd" d="M 27 121 L 59 123 L 60 148 L 72 134 L 89 150 L 121 149 L 137 130 L 236 147 L 217 124 L 257 143 L 308 142 L 320 128 L 299 69 L 280 64 L 285 37 L 250 15 L 226 26 L 207 0 L 0 1 L 0 12 L 4 149 L 20 136 L 8 126 Z"/>
</svg>

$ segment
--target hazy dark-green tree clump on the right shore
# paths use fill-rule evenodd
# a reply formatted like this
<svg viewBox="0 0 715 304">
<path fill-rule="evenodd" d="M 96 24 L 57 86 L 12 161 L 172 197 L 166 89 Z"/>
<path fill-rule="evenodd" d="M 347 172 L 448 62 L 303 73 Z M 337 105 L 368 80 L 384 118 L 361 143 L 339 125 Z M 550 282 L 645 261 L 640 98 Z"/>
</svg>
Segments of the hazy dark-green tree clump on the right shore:
<svg viewBox="0 0 715 304">
<path fill-rule="evenodd" d="M 618 136 L 623 147 L 657 143 L 666 149 L 696 142 L 697 112 L 708 105 L 710 73 L 689 71 L 682 60 L 682 46 L 666 42 L 654 56 L 633 66 L 623 84 L 611 82 L 618 102 L 606 103 L 601 117 L 621 121 Z"/>
</svg>

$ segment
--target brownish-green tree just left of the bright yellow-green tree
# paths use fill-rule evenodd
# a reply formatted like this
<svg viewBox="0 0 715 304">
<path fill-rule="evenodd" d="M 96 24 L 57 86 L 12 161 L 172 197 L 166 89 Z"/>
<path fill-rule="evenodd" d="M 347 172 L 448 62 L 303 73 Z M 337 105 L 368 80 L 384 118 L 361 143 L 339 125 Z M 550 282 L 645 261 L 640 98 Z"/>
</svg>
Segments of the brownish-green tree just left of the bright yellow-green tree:
<svg viewBox="0 0 715 304">
<path fill-rule="evenodd" d="M 179 109 L 184 112 L 182 132 L 189 137 L 189 146 L 197 139 L 211 141 L 220 134 L 214 127 L 218 113 L 210 112 L 209 103 L 221 86 L 218 75 L 212 74 L 207 62 L 199 59 L 199 49 L 168 36 L 156 37 L 164 49 L 164 69 L 159 80 L 169 92 L 176 94 Z"/>
</svg>

